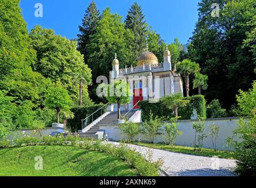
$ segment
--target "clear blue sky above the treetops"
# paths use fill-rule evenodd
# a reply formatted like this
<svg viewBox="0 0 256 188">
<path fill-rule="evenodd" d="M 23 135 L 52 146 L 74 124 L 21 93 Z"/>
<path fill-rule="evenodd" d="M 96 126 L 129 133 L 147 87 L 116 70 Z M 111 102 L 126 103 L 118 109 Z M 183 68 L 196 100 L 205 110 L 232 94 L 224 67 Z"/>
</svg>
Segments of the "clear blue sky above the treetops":
<svg viewBox="0 0 256 188">
<path fill-rule="evenodd" d="M 159 33 L 165 42 L 174 38 L 187 43 L 198 19 L 197 4 L 200 0 L 137 0 L 142 6 L 147 23 Z M 54 29 L 56 34 L 76 38 L 78 25 L 91 0 L 21 0 L 22 14 L 30 31 L 35 25 Z M 99 11 L 109 7 L 125 19 L 134 0 L 94 0 Z M 43 18 L 34 16 L 35 4 L 43 5 Z"/>
</svg>

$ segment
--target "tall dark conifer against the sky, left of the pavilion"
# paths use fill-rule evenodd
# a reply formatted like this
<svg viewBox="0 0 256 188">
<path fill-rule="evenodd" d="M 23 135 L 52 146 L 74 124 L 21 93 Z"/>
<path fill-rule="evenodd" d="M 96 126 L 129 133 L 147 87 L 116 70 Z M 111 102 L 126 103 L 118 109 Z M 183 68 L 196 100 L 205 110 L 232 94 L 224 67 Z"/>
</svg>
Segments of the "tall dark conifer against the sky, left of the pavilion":
<svg viewBox="0 0 256 188">
<path fill-rule="evenodd" d="M 87 64 L 89 53 L 86 46 L 90 42 L 90 36 L 93 35 L 97 29 L 100 13 L 94 1 L 89 4 L 85 11 L 84 18 L 82 19 L 82 25 L 79 26 L 78 34 L 78 51 L 84 55 L 84 61 Z M 91 66 L 90 66 L 91 67 Z"/>
</svg>

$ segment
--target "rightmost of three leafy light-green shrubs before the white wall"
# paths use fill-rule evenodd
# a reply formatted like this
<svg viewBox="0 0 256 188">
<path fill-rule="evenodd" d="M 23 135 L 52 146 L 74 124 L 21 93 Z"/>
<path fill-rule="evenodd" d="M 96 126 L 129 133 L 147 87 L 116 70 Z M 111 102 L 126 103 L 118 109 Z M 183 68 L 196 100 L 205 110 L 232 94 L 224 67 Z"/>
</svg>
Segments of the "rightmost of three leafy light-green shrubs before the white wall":
<svg viewBox="0 0 256 188">
<path fill-rule="evenodd" d="M 165 132 L 164 140 L 169 143 L 169 146 L 174 146 L 176 137 L 182 135 L 182 132 L 178 130 L 178 118 L 174 117 L 170 119 L 170 123 L 165 123 Z"/>
</svg>

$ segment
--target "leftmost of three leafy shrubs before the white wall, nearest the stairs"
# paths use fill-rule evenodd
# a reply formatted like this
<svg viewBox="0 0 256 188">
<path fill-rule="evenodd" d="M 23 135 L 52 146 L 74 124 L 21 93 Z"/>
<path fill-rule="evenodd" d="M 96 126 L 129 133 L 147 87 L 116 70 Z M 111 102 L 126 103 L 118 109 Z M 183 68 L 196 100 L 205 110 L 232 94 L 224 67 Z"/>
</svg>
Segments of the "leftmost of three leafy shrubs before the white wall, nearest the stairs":
<svg viewBox="0 0 256 188">
<path fill-rule="evenodd" d="M 117 127 L 121 130 L 127 137 L 128 142 L 131 143 L 135 136 L 141 133 L 141 125 L 139 123 L 125 122 Z"/>
</svg>

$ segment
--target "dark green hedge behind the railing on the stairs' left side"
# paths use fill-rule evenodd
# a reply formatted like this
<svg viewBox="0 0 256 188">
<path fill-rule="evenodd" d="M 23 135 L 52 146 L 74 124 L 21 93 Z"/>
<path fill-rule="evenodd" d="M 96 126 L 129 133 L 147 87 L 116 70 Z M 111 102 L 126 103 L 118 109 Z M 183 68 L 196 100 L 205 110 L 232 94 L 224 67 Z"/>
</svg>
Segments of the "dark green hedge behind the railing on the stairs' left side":
<svg viewBox="0 0 256 188">
<path fill-rule="evenodd" d="M 85 119 L 85 117 L 91 115 L 96 110 L 104 106 L 104 104 L 99 105 L 91 105 L 91 106 L 78 106 L 71 109 L 71 112 L 74 113 L 74 119 L 67 120 L 67 127 L 71 130 L 71 132 L 76 132 L 77 130 L 81 130 L 82 123 L 81 119 Z M 107 112 L 107 106 L 102 108 L 102 114 Z M 101 110 L 94 114 L 94 120 L 101 116 Z M 88 118 L 87 125 L 92 122 L 92 116 Z"/>
</svg>

